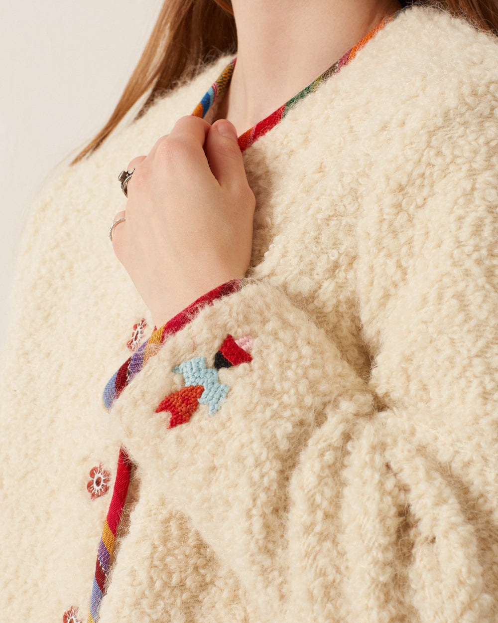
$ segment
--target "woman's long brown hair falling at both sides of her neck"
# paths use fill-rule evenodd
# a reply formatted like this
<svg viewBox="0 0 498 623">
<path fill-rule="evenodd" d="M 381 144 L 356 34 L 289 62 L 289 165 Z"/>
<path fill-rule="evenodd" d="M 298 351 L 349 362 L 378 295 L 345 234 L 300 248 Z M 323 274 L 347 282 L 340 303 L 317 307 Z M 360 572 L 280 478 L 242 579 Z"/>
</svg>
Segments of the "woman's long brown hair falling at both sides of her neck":
<svg viewBox="0 0 498 623">
<path fill-rule="evenodd" d="M 415 2 L 405 2 L 412 3 Z M 472 26 L 498 35 L 498 0 L 421 0 L 416 4 L 437 6 L 464 17 Z M 145 93 L 149 95 L 137 118 L 157 97 L 194 77 L 209 62 L 235 50 L 237 32 L 230 0 L 165 0 L 109 121 L 72 164 L 95 151 Z"/>
</svg>

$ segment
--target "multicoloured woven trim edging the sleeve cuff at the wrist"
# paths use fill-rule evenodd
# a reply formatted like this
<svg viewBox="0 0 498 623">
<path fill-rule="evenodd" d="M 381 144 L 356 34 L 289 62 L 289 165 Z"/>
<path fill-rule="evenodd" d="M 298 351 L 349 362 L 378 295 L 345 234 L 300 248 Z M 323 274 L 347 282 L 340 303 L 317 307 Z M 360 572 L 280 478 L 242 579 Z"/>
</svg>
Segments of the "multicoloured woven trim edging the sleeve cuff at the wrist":
<svg viewBox="0 0 498 623">
<path fill-rule="evenodd" d="M 110 409 L 115 400 L 120 396 L 123 389 L 128 386 L 134 376 L 141 371 L 148 360 L 161 350 L 169 336 L 184 328 L 206 305 L 211 305 L 217 298 L 225 297 L 233 292 L 237 292 L 242 287 L 241 279 L 233 279 L 223 285 L 218 286 L 204 297 L 198 298 L 192 305 L 189 305 L 183 312 L 172 318 L 166 325 L 154 330 L 150 338 L 133 353 L 133 355 L 123 363 L 121 368 L 110 379 L 103 393 L 103 401 L 106 409 Z"/>
</svg>

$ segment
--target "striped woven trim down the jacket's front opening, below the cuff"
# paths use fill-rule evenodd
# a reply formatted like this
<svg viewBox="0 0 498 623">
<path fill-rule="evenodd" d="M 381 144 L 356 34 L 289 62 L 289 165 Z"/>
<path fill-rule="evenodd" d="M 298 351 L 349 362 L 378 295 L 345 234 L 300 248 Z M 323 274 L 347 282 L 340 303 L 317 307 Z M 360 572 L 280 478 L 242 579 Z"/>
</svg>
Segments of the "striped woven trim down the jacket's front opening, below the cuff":
<svg viewBox="0 0 498 623">
<path fill-rule="evenodd" d="M 98 621 L 100 604 L 105 595 L 106 580 L 111 567 L 111 554 L 116 541 L 116 532 L 121 520 L 123 508 L 125 507 L 131 467 L 132 464 L 128 455 L 125 450 L 121 448 L 113 497 L 111 498 L 100 545 L 98 546 L 95 578 L 93 579 L 92 599 L 90 601 L 90 613 L 88 614 L 87 623 L 96 623 Z"/>
</svg>

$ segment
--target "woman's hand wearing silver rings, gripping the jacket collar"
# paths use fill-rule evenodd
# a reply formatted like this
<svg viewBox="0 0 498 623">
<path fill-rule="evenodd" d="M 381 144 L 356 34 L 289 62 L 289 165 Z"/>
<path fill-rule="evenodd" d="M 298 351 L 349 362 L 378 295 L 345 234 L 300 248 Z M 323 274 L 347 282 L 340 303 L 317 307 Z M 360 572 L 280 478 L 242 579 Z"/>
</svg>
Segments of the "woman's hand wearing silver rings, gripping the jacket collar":
<svg viewBox="0 0 498 623">
<path fill-rule="evenodd" d="M 255 197 L 235 127 L 182 117 L 148 156 L 135 158 L 126 222 L 113 247 L 159 327 L 197 298 L 243 277 Z"/>
</svg>

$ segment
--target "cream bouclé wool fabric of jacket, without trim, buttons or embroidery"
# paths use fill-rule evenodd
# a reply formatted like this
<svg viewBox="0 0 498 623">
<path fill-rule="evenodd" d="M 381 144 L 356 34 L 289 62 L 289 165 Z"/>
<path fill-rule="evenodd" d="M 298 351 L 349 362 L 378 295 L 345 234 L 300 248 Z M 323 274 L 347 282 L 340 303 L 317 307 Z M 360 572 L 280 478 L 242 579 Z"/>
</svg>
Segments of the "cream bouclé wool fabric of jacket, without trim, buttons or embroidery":
<svg viewBox="0 0 498 623">
<path fill-rule="evenodd" d="M 333 60 L 333 59 L 331 59 Z M 101 392 L 149 311 L 116 174 L 221 59 L 63 173 L 27 226 L 2 372 L 2 622 L 84 620 L 120 445 L 136 467 L 100 623 L 498 621 L 498 45 L 404 12 L 244 153 L 248 285 Z M 156 412 L 227 335 L 209 415 Z M 71 608 L 74 608 L 71 611 Z"/>
</svg>

